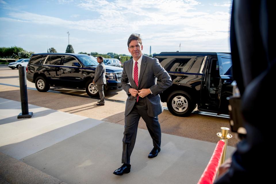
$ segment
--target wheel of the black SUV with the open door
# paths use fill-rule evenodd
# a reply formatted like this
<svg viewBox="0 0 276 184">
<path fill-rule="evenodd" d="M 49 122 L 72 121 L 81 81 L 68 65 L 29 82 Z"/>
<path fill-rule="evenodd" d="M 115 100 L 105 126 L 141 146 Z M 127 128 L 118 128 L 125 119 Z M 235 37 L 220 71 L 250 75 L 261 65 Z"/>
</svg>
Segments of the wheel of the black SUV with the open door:
<svg viewBox="0 0 276 184">
<path fill-rule="evenodd" d="M 167 101 L 168 110 L 175 116 L 189 116 L 195 109 L 191 96 L 185 91 L 170 93 Z"/>
</svg>

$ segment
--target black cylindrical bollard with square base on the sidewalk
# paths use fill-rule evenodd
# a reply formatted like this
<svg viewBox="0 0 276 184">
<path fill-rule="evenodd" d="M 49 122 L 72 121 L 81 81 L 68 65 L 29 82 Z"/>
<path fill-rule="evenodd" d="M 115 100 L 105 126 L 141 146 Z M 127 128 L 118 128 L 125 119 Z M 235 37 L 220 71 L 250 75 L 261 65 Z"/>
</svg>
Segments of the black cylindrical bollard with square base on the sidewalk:
<svg viewBox="0 0 276 184">
<path fill-rule="evenodd" d="M 28 93 L 27 93 L 27 80 L 26 80 L 26 67 L 19 66 L 19 84 L 20 84 L 20 97 L 21 97 L 21 109 L 22 113 L 20 113 L 17 118 L 31 118 L 33 113 L 29 112 L 28 107 Z"/>
</svg>

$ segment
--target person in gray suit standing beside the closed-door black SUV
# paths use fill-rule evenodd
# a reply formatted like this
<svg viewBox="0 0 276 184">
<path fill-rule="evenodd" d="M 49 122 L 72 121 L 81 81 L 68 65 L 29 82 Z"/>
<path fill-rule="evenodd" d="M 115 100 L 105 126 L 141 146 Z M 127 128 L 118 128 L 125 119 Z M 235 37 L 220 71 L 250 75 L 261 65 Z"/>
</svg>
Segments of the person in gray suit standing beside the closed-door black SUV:
<svg viewBox="0 0 276 184">
<path fill-rule="evenodd" d="M 97 57 L 97 62 L 99 64 L 95 69 L 95 76 L 93 79 L 93 83 L 97 85 L 97 89 L 99 91 L 99 95 L 101 98 L 101 100 L 98 101 L 99 104 L 97 104 L 97 106 L 104 106 L 104 85 L 106 84 L 106 67 L 104 66 L 103 60 L 103 57 Z"/>
</svg>

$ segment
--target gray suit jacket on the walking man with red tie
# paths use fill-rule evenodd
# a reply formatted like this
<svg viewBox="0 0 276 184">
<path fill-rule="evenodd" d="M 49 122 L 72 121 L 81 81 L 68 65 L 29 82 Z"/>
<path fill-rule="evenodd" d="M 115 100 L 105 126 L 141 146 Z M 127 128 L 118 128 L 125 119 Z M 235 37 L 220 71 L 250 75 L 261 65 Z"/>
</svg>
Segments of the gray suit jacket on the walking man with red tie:
<svg viewBox="0 0 276 184">
<path fill-rule="evenodd" d="M 124 62 L 124 68 L 121 78 L 122 88 L 127 92 L 128 98 L 124 115 L 127 116 L 137 99 L 129 93 L 129 88 L 147 89 L 150 88 L 152 94 L 147 95 L 145 98 L 145 105 L 147 114 L 150 117 L 156 117 L 163 111 L 160 95 L 162 91 L 172 85 L 172 80 L 168 72 L 160 65 L 158 59 L 148 56 L 142 56 L 138 86 L 132 79 L 132 64 L 133 59 Z M 157 83 L 158 79 L 158 83 Z"/>
</svg>

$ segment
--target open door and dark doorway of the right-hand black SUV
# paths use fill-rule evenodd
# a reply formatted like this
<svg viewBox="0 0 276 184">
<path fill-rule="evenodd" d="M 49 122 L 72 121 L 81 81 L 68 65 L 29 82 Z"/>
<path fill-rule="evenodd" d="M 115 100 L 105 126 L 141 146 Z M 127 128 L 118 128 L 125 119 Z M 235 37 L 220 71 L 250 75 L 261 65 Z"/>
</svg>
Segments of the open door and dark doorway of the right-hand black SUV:
<svg viewBox="0 0 276 184">
<path fill-rule="evenodd" d="M 208 55 L 201 85 L 199 110 L 228 114 L 227 97 L 232 95 L 232 60 L 230 54 Z"/>
</svg>

